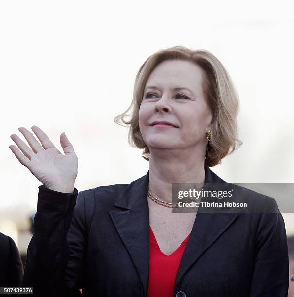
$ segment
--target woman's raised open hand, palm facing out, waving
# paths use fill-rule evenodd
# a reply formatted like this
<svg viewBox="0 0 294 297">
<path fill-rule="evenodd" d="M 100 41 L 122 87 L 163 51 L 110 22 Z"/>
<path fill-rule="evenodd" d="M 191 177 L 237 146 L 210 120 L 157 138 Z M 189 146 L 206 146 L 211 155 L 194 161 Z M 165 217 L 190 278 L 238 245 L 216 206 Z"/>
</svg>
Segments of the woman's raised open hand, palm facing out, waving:
<svg viewBox="0 0 294 297">
<path fill-rule="evenodd" d="M 78 174 L 78 158 L 67 136 L 62 133 L 59 137 L 65 153 L 63 155 L 39 127 L 32 126 L 31 129 L 41 144 L 29 130 L 19 127 L 18 130 L 31 148 L 16 134 L 10 137 L 19 149 L 15 145 L 9 148 L 18 161 L 27 167 L 45 187 L 58 192 L 73 193 L 74 182 Z"/>
</svg>

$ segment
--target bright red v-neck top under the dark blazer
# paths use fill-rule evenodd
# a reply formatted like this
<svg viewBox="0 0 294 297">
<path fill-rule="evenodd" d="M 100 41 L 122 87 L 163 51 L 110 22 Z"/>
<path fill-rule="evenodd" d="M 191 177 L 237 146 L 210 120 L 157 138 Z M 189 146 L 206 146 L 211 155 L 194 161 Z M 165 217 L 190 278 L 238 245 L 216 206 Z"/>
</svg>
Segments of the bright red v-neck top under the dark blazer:
<svg viewBox="0 0 294 297">
<path fill-rule="evenodd" d="M 191 233 L 190 233 L 191 234 Z M 149 281 L 147 297 L 172 297 L 180 260 L 190 234 L 171 255 L 160 250 L 149 226 Z"/>
</svg>

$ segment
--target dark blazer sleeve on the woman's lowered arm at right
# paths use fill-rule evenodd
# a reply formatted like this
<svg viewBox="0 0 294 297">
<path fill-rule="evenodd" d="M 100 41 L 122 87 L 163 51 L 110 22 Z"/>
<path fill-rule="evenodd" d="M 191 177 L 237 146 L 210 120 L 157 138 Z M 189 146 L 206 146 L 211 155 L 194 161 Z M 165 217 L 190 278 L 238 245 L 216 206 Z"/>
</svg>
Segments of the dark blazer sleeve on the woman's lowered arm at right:
<svg viewBox="0 0 294 297">
<path fill-rule="evenodd" d="M 261 201 L 264 199 L 258 203 Z M 263 204 L 264 211 L 251 216 L 255 261 L 250 297 L 287 297 L 289 256 L 284 219 L 274 198 L 266 196 Z"/>
</svg>

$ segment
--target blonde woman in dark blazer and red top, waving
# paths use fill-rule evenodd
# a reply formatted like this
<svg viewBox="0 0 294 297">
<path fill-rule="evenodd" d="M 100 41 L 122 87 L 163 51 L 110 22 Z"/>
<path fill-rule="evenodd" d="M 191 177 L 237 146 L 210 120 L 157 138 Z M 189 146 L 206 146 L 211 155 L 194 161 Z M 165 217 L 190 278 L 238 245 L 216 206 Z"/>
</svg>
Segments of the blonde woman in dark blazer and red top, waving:
<svg viewBox="0 0 294 297">
<path fill-rule="evenodd" d="M 63 155 L 39 127 L 41 144 L 20 127 L 31 148 L 15 134 L 20 150 L 10 148 L 43 183 L 23 285 L 37 296 L 287 296 L 286 232 L 273 198 L 244 190 L 272 213 L 173 211 L 172 184 L 225 183 L 209 167 L 240 145 L 237 111 L 229 74 L 210 52 L 156 52 L 137 73 L 130 108 L 115 118 L 130 125 L 149 171 L 79 193 L 65 133 Z"/>
</svg>

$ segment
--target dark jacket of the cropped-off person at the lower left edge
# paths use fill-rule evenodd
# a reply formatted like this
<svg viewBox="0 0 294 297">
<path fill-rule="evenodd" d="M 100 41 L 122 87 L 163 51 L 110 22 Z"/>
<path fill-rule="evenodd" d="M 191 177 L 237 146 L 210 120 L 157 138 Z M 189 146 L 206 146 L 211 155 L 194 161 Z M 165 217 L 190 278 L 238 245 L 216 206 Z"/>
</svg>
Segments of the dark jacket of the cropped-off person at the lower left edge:
<svg viewBox="0 0 294 297">
<path fill-rule="evenodd" d="M 13 239 L 0 233 L 0 287 L 20 286 L 23 266 Z"/>
</svg>

